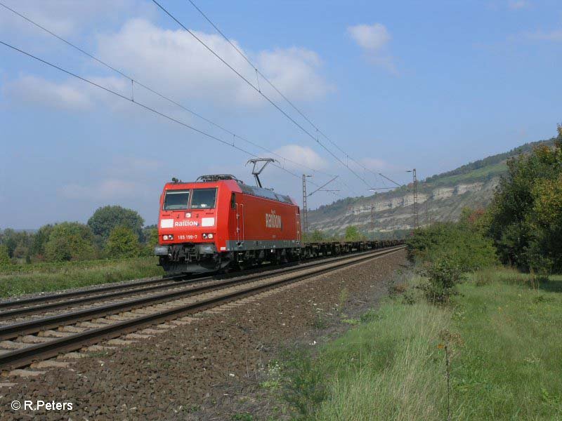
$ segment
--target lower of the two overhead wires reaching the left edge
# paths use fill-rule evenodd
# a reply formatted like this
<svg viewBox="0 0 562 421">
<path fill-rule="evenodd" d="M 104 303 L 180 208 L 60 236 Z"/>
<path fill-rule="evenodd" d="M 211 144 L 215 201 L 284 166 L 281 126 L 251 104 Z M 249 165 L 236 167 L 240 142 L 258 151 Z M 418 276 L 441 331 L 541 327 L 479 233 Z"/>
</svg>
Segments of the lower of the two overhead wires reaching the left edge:
<svg viewBox="0 0 562 421">
<path fill-rule="evenodd" d="M 55 65 L 55 64 L 53 64 L 53 63 L 51 63 L 51 62 L 48 62 L 47 60 L 44 60 L 44 59 L 42 59 L 42 58 L 39 58 L 39 57 L 37 57 L 37 55 L 33 55 L 32 53 L 28 53 L 27 51 L 23 51 L 22 49 L 20 49 L 20 48 L 18 48 L 18 47 L 16 47 L 16 46 L 13 46 L 13 45 L 11 45 L 11 44 L 8 44 L 8 43 L 6 43 L 5 41 L 1 41 L 1 40 L 0 40 L 0 44 L 6 46 L 6 47 L 8 47 L 8 48 L 11 48 L 13 51 L 17 51 L 18 53 L 21 53 L 21 54 L 23 54 L 23 55 L 26 55 L 26 56 L 29 57 L 29 58 L 33 58 L 34 60 L 37 60 L 37 61 L 43 63 L 44 65 L 48 65 L 48 66 L 52 67 L 53 69 L 57 69 L 57 70 L 59 70 L 60 72 L 63 72 L 63 73 L 65 73 L 65 74 L 68 74 L 69 76 L 72 76 L 72 77 L 74 77 L 74 78 L 76 78 L 76 79 L 79 79 L 79 80 L 81 80 L 81 81 L 84 81 L 84 82 L 86 82 L 86 83 L 89 83 L 91 86 L 94 86 L 94 87 L 96 87 L 96 88 L 102 89 L 103 91 L 105 91 L 105 92 L 107 92 L 107 93 L 110 93 L 110 94 L 115 95 L 115 96 L 117 96 L 117 97 L 119 97 L 119 98 L 122 98 L 123 100 L 129 101 L 129 102 L 131 102 L 132 104 L 138 105 L 138 107 L 142 107 L 143 109 L 145 109 L 145 110 L 147 110 L 147 111 L 150 111 L 150 112 L 152 112 L 152 113 L 154 113 L 154 114 L 157 114 L 157 115 L 159 115 L 159 116 L 162 116 L 162 117 L 164 117 L 165 119 L 168 119 L 169 121 L 173 121 L 174 123 L 178 123 L 178 124 L 180 124 L 181 126 L 183 126 L 183 127 L 185 127 L 185 128 L 189 128 L 190 130 L 195 131 L 196 133 L 200 133 L 201 135 L 206 136 L 207 138 L 211 138 L 211 139 L 213 139 L 213 140 L 216 140 L 216 141 L 218 141 L 218 142 L 223 143 L 224 145 L 228 145 L 229 147 L 233 147 L 234 149 L 237 149 L 238 151 L 243 152 L 244 154 L 248 154 L 248 155 L 254 156 L 254 157 L 256 157 L 256 158 L 258 157 L 256 154 L 253 154 L 252 152 L 249 152 L 249 151 L 247 151 L 246 149 L 243 149 L 242 147 L 238 147 L 238 146 L 236 146 L 236 145 L 233 145 L 233 144 L 231 144 L 230 142 L 227 142 L 226 140 L 223 140 L 223 139 L 221 139 L 221 138 L 218 138 L 218 137 L 215 136 L 215 135 L 211 135 L 211 133 L 207 133 L 207 132 L 205 132 L 205 131 L 202 131 L 202 130 L 200 130 L 199 128 L 196 128 L 196 127 L 194 127 L 194 126 L 191 126 L 191 125 L 188 124 L 188 123 L 184 123 L 183 121 L 178 120 L 178 119 L 176 119 L 176 118 L 174 118 L 174 117 L 172 117 L 172 116 L 169 116 L 168 114 L 165 114 L 165 113 L 163 113 L 163 112 L 160 112 L 160 111 L 158 111 L 158 110 L 155 109 L 155 108 L 149 107 L 148 105 L 145 105 L 145 104 L 143 104 L 142 102 L 133 101 L 131 98 L 127 97 L 126 95 L 123 95 L 122 93 L 119 93 L 119 92 L 117 92 L 117 91 L 113 91 L 112 89 L 107 88 L 106 86 L 100 85 L 99 83 L 96 83 L 96 82 L 94 82 L 94 81 L 91 81 L 90 79 L 87 79 L 87 78 L 85 78 L 85 77 L 83 77 L 83 76 L 79 76 L 78 74 L 75 74 L 74 72 L 70 72 L 70 70 L 64 69 L 63 67 L 60 67 L 60 66 Z M 301 175 L 292 173 L 292 171 L 287 170 L 287 168 L 283 168 L 282 166 L 277 166 L 277 165 L 275 165 L 275 166 L 276 166 L 277 168 L 280 168 L 280 170 L 285 171 L 286 173 L 288 173 L 288 174 L 290 174 L 290 175 L 293 175 L 293 176 L 296 177 L 296 178 L 301 178 Z M 315 184 L 315 185 L 318 186 L 317 184 Z M 335 193 L 335 192 L 332 192 L 332 193 Z"/>
</svg>

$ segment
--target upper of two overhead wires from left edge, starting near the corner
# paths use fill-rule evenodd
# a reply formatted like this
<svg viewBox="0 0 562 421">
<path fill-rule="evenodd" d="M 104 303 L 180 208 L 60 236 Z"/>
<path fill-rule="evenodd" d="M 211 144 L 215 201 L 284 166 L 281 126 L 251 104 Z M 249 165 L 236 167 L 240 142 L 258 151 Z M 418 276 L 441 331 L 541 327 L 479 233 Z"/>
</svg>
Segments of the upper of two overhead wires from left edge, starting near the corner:
<svg viewBox="0 0 562 421">
<path fill-rule="evenodd" d="M 9 6 L 6 6 L 6 4 L 3 4 L 1 1 L 0 1 L 0 6 L 6 8 L 8 11 L 11 11 L 15 15 L 18 15 L 20 18 L 22 18 L 24 20 L 27 20 L 27 22 L 30 22 L 32 25 L 34 25 L 36 27 L 39 27 L 44 32 L 47 32 L 48 34 L 51 34 L 52 36 L 59 39 L 60 41 L 63 41 L 68 46 L 76 49 L 77 51 L 80 51 L 81 53 L 88 56 L 92 60 L 95 60 L 96 62 L 98 62 L 100 65 L 103 65 L 103 66 L 107 67 L 108 69 L 112 70 L 113 72 L 116 72 L 117 74 L 123 76 L 125 79 L 129 79 L 131 81 L 131 100 L 132 100 L 132 102 L 134 102 L 134 96 L 133 96 L 133 82 L 134 82 L 134 83 L 136 83 L 136 85 L 141 86 L 142 88 L 145 88 L 147 91 L 157 95 L 159 98 L 162 98 L 162 99 L 170 102 L 171 104 L 176 105 L 177 107 L 180 107 L 184 111 L 189 112 L 190 114 L 196 116 L 197 118 L 202 119 L 203 121 L 206 121 L 207 123 L 211 124 L 212 126 L 220 129 L 221 131 L 224 131 L 225 133 L 228 133 L 229 135 L 233 136 L 233 140 L 235 140 L 235 138 L 238 138 L 238 139 L 240 139 L 244 142 L 247 142 L 249 145 L 253 145 L 254 147 L 262 149 L 263 151 L 268 152 L 269 154 L 273 154 L 273 155 L 277 156 L 278 158 L 282 159 L 285 162 L 293 163 L 294 165 L 300 166 L 301 168 L 305 168 L 308 171 L 313 171 L 315 173 L 326 175 L 328 177 L 334 176 L 333 174 L 325 173 L 324 171 L 320 171 L 320 170 L 315 169 L 315 168 L 310 168 L 306 165 L 303 165 L 302 163 L 296 162 L 292 159 L 289 159 L 285 156 L 282 156 L 282 155 L 278 154 L 277 152 L 273 152 L 272 150 L 270 150 L 266 147 L 263 147 L 262 145 L 259 145 L 256 142 L 252 142 L 251 140 L 248 140 L 244 136 L 238 135 L 237 133 L 234 133 L 233 131 L 230 131 L 228 128 L 225 128 L 225 127 L 221 126 L 220 124 L 216 123 L 215 121 L 212 121 L 211 119 L 208 119 L 208 118 L 202 116 L 201 114 L 193 111 L 192 109 L 189 109 L 188 107 L 185 107 L 184 105 L 177 102 L 176 100 L 173 100 L 170 97 L 155 91 L 154 89 L 150 88 L 150 86 L 146 86 L 144 83 L 141 83 L 141 81 L 138 81 L 138 79 L 135 79 L 132 76 L 129 76 L 129 74 L 126 74 L 125 72 L 123 72 L 122 70 L 117 69 L 117 67 L 112 66 L 112 65 L 110 65 L 109 63 L 107 63 L 103 60 L 100 60 L 100 58 L 96 57 L 95 55 L 89 53 L 88 51 L 85 51 L 83 48 L 80 48 L 79 46 L 77 46 L 76 44 L 73 44 L 72 42 L 68 41 L 67 39 L 64 39 L 62 36 L 60 36 L 58 34 L 55 34 L 55 32 L 51 31 L 50 29 L 47 29 L 43 25 L 40 25 L 39 23 L 35 22 L 34 20 L 32 20 L 32 19 L 28 18 L 27 16 L 23 15 L 22 13 L 19 13 L 18 11 L 15 11 L 13 8 L 11 8 Z"/>
</svg>

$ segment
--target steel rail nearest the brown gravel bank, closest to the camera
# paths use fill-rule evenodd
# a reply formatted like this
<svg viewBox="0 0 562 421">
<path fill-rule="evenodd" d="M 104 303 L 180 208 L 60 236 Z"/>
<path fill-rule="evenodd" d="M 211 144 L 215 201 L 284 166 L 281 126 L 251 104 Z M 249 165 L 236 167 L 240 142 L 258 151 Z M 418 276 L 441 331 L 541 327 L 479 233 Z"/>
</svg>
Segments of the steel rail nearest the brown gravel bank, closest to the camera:
<svg viewBox="0 0 562 421">
<path fill-rule="evenodd" d="M 233 293 L 228 293 L 226 295 L 219 295 L 214 298 L 207 298 L 198 302 L 194 302 L 188 305 L 174 307 L 172 309 L 165 309 L 154 314 L 146 314 L 144 316 L 139 316 L 131 320 L 120 321 L 117 323 L 112 323 L 107 326 L 100 328 L 94 328 L 91 330 L 85 330 L 81 333 L 76 333 L 69 335 L 65 338 L 54 339 L 49 342 L 44 342 L 37 345 L 31 345 L 30 347 L 25 347 L 22 349 L 17 349 L 12 352 L 7 352 L 0 356 L 0 370 L 5 370 L 8 368 L 18 368 L 21 366 L 26 366 L 27 364 L 35 361 L 37 359 L 48 359 L 53 356 L 57 356 L 60 352 L 70 352 L 76 349 L 80 349 L 86 345 L 91 345 L 92 343 L 100 342 L 101 340 L 108 340 L 111 338 L 117 338 L 124 333 L 129 333 L 133 330 L 138 330 L 138 328 L 144 326 L 150 326 L 154 323 L 161 323 L 162 321 L 167 321 L 169 319 L 175 319 L 180 316 L 185 316 L 187 314 L 192 314 L 195 312 L 201 312 L 204 309 L 210 307 L 216 307 L 225 302 L 230 302 L 242 298 L 247 295 L 252 295 L 259 293 L 263 290 L 268 290 L 270 288 L 275 288 L 282 284 L 293 283 L 300 281 L 302 279 L 310 278 L 313 276 L 318 276 L 320 274 L 325 274 L 327 272 L 332 272 L 336 269 L 341 269 L 346 266 L 355 265 L 366 260 L 371 260 L 374 258 L 379 258 L 390 253 L 395 253 L 398 250 L 403 249 L 405 246 L 398 246 L 396 248 L 387 248 L 384 250 L 378 250 L 374 253 L 369 253 L 367 256 L 362 258 L 357 258 L 356 255 L 349 257 L 343 262 L 339 262 L 336 265 L 330 267 L 319 268 L 313 272 L 307 272 L 305 274 L 295 274 L 286 279 L 279 279 L 270 283 L 264 283 L 259 286 L 251 286 L 242 290 L 235 291 Z"/>
</svg>

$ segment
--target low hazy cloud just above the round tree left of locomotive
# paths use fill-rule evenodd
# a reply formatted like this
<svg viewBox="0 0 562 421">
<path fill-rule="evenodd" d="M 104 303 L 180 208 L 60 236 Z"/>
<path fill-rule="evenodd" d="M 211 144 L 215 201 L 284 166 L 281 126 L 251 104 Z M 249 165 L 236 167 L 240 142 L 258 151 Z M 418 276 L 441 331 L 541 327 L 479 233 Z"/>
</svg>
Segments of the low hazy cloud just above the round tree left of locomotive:
<svg viewBox="0 0 562 421">
<path fill-rule="evenodd" d="M 59 194 L 67 199 L 100 201 L 112 199 L 131 199 L 146 196 L 146 186 L 141 182 L 108 179 L 94 185 L 72 183 L 59 189 Z"/>
</svg>

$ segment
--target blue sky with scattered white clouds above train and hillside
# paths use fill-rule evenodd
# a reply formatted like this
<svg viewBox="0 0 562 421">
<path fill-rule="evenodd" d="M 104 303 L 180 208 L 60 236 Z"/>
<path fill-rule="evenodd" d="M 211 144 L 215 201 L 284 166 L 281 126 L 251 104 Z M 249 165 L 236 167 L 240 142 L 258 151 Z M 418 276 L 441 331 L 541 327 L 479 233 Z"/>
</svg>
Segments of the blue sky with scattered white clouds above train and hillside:
<svg viewBox="0 0 562 421">
<path fill-rule="evenodd" d="M 126 75 L 0 5 L 0 41 L 98 85 L 0 44 L 0 229 L 113 204 L 152 224 L 164 182 L 253 183 L 255 156 L 277 159 L 263 185 L 299 203 L 303 173 L 308 192 L 337 176 L 315 208 L 562 122 L 560 1 L 193 0 L 229 43 L 189 0 L 158 0 L 209 48 L 152 1 L 0 2 Z"/>
</svg>

